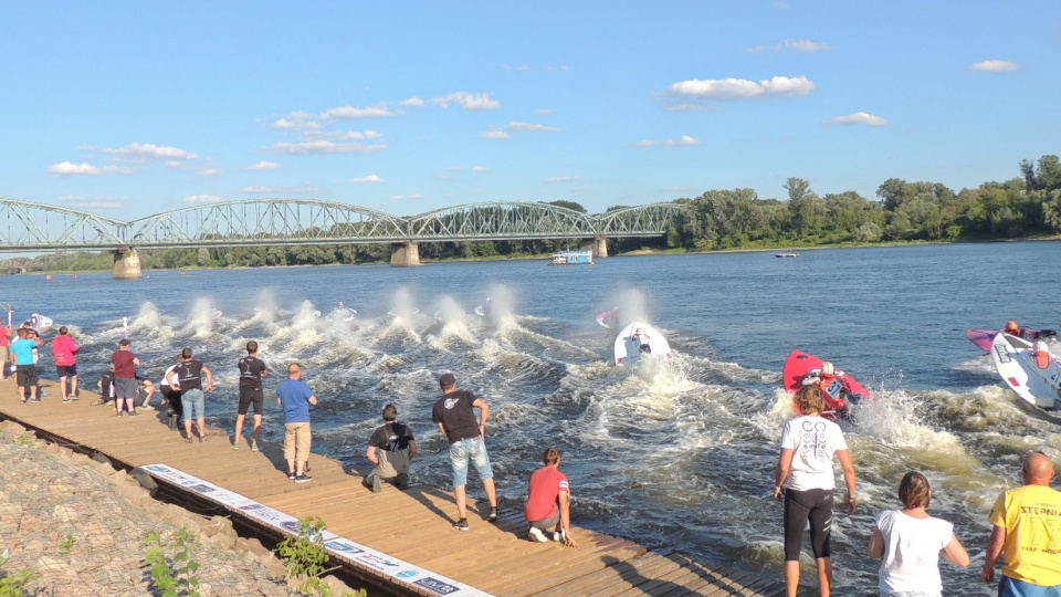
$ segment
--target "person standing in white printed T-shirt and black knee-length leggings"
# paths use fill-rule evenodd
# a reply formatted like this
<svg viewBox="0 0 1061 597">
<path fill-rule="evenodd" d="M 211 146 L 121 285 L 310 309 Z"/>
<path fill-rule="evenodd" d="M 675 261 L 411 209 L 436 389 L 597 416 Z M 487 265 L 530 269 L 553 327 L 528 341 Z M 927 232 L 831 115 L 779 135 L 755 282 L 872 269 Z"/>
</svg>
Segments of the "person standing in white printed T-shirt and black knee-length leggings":
<svg viewBox="0 0 1061 597">
<path fill-rule="evenodd" d="M 785 498 L 785 588 L 796 597 L 799 588 L 799 552 L 803 527 L 810 521 L 810 546 L 818 567 L 818 591 L 829 597 L 832 559 L 829 533 L 832 522 L 832 492 L 837 486 L 833 457 L 843 468 L 848 485 L 848 511 L 854 513 L 854 464 L 840 426 L 822 418 L 826 400 L 818 386 L 803 386 L 796 394 L 800 415 L 785 423 L 781 454 L 777 461 L 774 498 Z"/>
</svg>

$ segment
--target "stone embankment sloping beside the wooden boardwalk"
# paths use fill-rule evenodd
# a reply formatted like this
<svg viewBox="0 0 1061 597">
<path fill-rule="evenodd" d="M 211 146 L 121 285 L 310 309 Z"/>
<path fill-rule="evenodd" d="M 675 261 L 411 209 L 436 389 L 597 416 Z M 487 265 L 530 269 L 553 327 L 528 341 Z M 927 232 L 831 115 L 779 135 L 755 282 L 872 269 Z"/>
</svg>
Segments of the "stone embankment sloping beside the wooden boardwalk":
<svg viewBox="0 0 1061 597">
<path fill-rule="evenodd" d="M 12 574 L 34 574 L 29 595 L 101 597 L 160 594 L 144 562 L 144 538 L 158 533 L 172 557 L 181 528 L 199 536 L 191 559 L 207 596 L 298 595 L 285 568 L 224 517 L 207 519 L 154 500 L 134 476 L 0 422 L 0 555 Z M 327 578 L 335 595 L 349 590 Z"/>
</svg>

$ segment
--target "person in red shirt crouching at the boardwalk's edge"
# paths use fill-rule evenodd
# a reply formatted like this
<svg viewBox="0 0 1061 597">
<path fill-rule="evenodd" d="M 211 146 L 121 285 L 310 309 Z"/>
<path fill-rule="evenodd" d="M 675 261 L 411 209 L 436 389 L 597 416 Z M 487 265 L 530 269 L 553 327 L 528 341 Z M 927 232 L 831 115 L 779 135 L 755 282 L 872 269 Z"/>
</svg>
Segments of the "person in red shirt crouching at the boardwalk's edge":
<svg viewBox="0 0 1061 597">
<path fill-rule="evenodd" d="M 534 541 L 548 541 L 545 531 L 553 532 L 553 541 L 578 547 L 571 536 L 571 488 L 567 475 L 560 472 L 560 452 L 549 448 L 542 454 L 540 469 L 527 483 L 527 505 L 523 511 L 529 524 L 527 534 Z"/>
</svg>

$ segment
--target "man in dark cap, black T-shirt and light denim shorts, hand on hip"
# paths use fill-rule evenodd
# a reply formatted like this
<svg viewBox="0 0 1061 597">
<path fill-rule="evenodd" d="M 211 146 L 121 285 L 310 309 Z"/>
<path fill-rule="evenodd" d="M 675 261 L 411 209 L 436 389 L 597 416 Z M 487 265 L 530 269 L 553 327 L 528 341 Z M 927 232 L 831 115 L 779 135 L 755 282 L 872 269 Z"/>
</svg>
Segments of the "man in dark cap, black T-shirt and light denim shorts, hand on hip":
<svg viewBox="0 0 1061 597">
<path fill-rule="evenodd" d="M 468 462 L 475 464 L 486 498 L 490 500 L 490 522 L 497 520 L 497 493 L 494 489 L 494 472 L 490 468 L 486 454 L 486 419 L 490 418 L 490 405 L 470 391 L 456 389 L 453 374 L 442 374 L 439 378 L 443 396 L 434 404 L 431 420 L 438 423 L 439 431 L 450 440 L 450 463 L 453 465 L 453 496 L 456 500 L 458 520 L 453 527 L 468 531 Z M 474 408 L 482 411 L 482 422 L 475 420 Z"/>
</svg>

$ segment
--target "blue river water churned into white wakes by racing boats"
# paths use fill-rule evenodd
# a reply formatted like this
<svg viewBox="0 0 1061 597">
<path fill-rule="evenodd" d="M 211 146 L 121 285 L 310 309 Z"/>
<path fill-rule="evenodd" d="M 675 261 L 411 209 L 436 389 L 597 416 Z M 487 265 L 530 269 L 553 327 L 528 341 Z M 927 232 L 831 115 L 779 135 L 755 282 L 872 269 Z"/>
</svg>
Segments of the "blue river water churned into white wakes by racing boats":
<svg viewBox="0 0 1061 597">
<path fill-rule="evenodd" d="M 151 272 L 139 281 L 12 276 L 2 298 L 17 322 L 38 312 L 56 328 L 70 325 L 93 385 L 126 335 L 156 379 L 191 346 L 218 375 L 209 422 L 229 429 L 235 363 L 258 339 L 274 371 L 294 359 L 307 368 L 322 400 L 315 452 L 364 470 L 379 411 L 393 402 L 418 432 L 414 480 L 442 488 L 447 444 L 430 413 L 438 376 L 454 371 L 492 406 L 487 446 L 503 505 L 522 507 L 539 454 L 555 446 L 565 453 L 576 524 L 778 578 L 781 510 L 770 490 L 780 429 L 792 416 L 780 369 L 800 348 L 855 375 L 876 398 L 844 428 L 861 505 L 836 519 L 837 595 L 875 589 L 878 563 L 864 556 L 873 516 L 896 507 L 907 470 L 927 474 L 931 511 L 956 524 L 973 554 L 969 568 L 944 565 L 946 594 L 992 595 L 978 580 L 987 514 L 999 491 L 1020 483 L 1025 451 L 1061 455 L 1061 427 L 1020 407 L 964 332 L 1010 318 L 1061 327 L 1051 298 L 1061 281 L 1050 273 L 1059 256 L 1058 242 L 1023 242 L 798 259 L 611 258 L 571 268 L 536 260 Z M 490 325 L 473 313 L 487 296 Z M 339 301 L 357 317 L 327 318 Z M 611 366 L 614 337 L 593 315 L 613 305 L 623 320 L 663 332 L 675 359 Z M 53 374 L 51 350 L 42 353 Z M 281 440 L 282 423 L 266 400 L 266 439 Z M 482 495 L 470 476 L 470 493 Z"/>
</svg>

